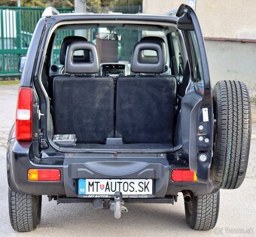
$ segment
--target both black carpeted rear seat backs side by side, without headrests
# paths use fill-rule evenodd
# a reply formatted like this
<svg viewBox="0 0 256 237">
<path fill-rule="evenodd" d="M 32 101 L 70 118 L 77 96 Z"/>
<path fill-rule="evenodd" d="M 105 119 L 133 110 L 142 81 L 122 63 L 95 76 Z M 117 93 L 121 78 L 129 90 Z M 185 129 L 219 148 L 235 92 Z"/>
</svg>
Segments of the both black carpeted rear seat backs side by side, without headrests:
<svg viewBox="0 0 256 237">
<path fill-rule="evenodd" d="M 77 147 L 172 146 L 172 77 L 119 77 L 117 89 L 111 77 L 56 77 L 53 87 L 54 132 L 75 134 Z"/>
</svg>

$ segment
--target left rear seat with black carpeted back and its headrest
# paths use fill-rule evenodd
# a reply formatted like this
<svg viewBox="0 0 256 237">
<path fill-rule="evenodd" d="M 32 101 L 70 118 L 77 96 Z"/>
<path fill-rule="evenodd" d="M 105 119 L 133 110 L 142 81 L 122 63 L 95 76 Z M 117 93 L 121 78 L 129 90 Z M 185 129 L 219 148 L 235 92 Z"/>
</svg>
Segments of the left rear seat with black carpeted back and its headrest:
<svg viewBox="0 0 256 237">
<path fill-rule="evenodd" d="M 74 62 L 76 50 L 89 50 L 93 62 Z M 75 133 L 77 143 L 104 144 L 114 130 L 114 81 L 94 77 L 99 72 L 95 45 L 69 44 L 65 72 L 68 74 L 53 79 L 55 134 Z"/>
</svg>

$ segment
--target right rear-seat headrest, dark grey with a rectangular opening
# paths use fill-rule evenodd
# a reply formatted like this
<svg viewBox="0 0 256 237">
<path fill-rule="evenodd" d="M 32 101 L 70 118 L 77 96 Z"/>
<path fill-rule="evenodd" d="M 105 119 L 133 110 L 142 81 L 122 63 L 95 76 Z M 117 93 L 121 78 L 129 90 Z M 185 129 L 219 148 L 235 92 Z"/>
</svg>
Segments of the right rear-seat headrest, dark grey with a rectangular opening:
<svg viewBox="0 0 256 237">
<path fill-rule="evenodd" d="M 153 56 L 154 59 L 146 60 L 143 56 L 143 50 L 154 50 L 157 56 Z M 151 56 L 148 56 L 151 57 Z M 165 69 L 165 60 L 163 54 L 163 46 L 156 42 L 140 41 L 133 50 L 131 71 L 135 73 L 152 73 L 160 74 Z"/>
</svg>

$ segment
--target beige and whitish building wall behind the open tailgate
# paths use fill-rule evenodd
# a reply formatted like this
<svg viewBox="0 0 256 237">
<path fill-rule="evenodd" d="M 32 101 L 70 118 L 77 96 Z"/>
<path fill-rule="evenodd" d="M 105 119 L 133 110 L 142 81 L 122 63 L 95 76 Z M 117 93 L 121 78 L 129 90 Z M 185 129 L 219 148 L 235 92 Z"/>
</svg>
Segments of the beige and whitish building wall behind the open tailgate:
<svg viewBox="0 0 256 237">
<path fill-rule="evenodd" d="M 212 81 L 244 81 L 256 91 L 255 0 L 144 0 L 143 12 L 165 14 L 181 3 L 194 5 L 206 41 Z"/>
</svg>

